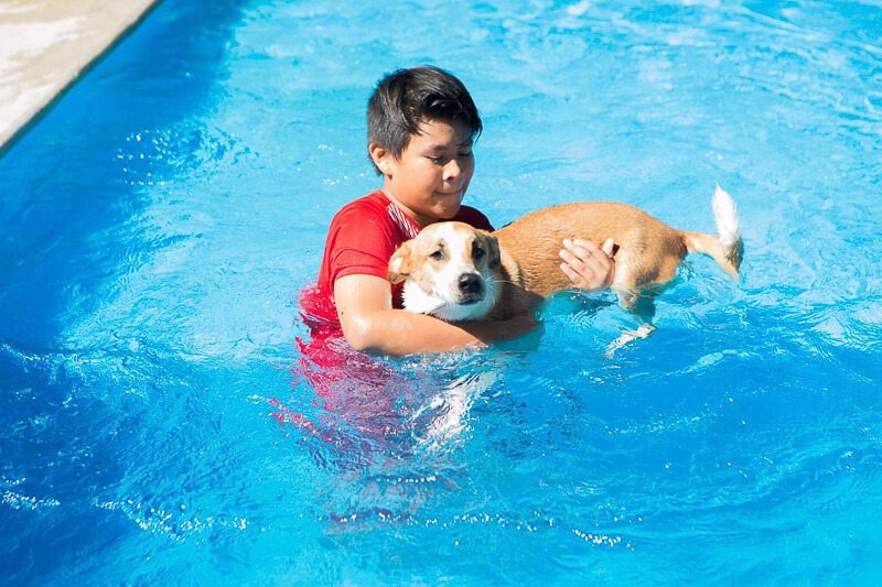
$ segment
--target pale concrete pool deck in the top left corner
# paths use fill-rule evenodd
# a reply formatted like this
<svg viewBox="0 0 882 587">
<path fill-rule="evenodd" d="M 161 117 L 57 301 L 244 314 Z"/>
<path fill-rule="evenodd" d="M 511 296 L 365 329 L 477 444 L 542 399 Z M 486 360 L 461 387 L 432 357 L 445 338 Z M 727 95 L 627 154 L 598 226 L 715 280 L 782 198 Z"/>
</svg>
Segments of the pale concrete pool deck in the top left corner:
<svg viewBox="0 0 882 587">
<path fill-rule="evenodd" d="M 157 0 L 0 0 L 0 152 Z"/>
</svg>

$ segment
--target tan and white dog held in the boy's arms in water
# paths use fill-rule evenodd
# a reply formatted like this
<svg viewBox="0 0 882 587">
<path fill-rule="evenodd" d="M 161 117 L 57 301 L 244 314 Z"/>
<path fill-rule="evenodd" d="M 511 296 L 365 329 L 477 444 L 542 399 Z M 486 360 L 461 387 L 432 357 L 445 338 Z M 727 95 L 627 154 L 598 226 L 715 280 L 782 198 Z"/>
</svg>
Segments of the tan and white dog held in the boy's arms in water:
<svg viewBox="0 0 882 587">
<path fill-rule="evenodd" d="M 649 325 L 653 298 L 687 253 L 709 254 L 738 281 L 742 258 L 735 204 L 713 195 L 719 237 L 677 230 L 645 211 L 615 203 L 542 208 L 487 232 L 462 222 L 429 225 L 389 260 L 389 281 L 405 281 L 405 308 L 449 322 L 503 319 L 535 309 L 545 296 L 572 289 L 560 270 L 563 239 L 619 246 L 610 286 L 619 303 Z"/>
</svg>

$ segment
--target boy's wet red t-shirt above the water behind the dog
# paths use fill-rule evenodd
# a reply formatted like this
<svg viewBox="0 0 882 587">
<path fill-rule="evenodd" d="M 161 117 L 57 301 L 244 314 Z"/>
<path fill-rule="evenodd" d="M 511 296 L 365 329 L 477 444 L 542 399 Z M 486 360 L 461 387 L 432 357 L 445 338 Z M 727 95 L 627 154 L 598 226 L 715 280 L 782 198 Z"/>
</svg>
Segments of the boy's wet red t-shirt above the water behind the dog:
<svg viewBox="0 0 882 587">
<path fill-rule="evenodd" d="M 493 230 L 487 217 L 469 206 L 461 206 L 451 220 Z M 327 229 L 319 282 L 301 295 L 300 306 L 306 324 L 313 330 L 315 327 L 338 329 L 334 282 L 344 275 L 386 279 L 395 250 L 416 237 L 419 230 L 419 225 L 379 191 L 341 208 Z M 401 284 L 390 287 L 394 306 L 401 307 Z"/>
</svg>

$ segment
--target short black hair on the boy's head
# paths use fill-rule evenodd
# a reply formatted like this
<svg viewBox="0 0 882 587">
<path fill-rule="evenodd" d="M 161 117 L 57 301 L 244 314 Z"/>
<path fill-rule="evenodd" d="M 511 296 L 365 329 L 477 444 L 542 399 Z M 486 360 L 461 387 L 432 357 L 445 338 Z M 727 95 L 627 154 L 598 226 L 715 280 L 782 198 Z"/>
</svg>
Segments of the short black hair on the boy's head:
<svg viewBox="0 0 882 587">
<path fill-rule="evenodd" d="M 377 83 L 367 102 L 367 142 L 398 159 L 420 123 L 430 120 L 463 123 L 472 140 L 483 129 L 472 96 L 454 75 L 431 66 L 395 70 Z"/>
</svg>

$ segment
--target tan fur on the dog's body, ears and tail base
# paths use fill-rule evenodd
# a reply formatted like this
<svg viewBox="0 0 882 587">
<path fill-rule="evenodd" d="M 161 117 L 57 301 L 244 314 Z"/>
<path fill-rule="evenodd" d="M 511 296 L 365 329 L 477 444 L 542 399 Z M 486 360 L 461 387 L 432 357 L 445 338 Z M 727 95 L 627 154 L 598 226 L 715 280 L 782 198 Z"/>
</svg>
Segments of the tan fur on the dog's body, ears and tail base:
<svg viewBox="0 0 882 587">
<path fill-rule="evenodd" d="M 438 248 L 439 231 L 450 233 L 441 228 L 444 225 L 451 222 L 430 225 L 396 251 L 390 261 L 390 281 L 434 279 L 435 269 L 431 261 L 427 262 L 427 254 Z M 674 279 L 688 252 L 711 256 L 736 281 L 741 263 L 740 238 L 727 247 L 716 236 L 677 230 L 639 208 L 617 203 L 573 203 L 542 208 L 492 235 L 455 222 L 454 233 L 456 238 L 478 239 L 488 248 L 493 247 L 494 238 L 498 241 L 498 267 L 473 262 L 486 280 L 497 280 L 501 284 L 495 292 L 495 305 L 486 315 L 490 318 L 506 318 L 535 308 L 542 297 L 573 286 L 560 270 L 558 253 L 563 239 L 579 238 L 600 246 L 612 238 L 619 251 L 611 289 L 626 309 L 646 322 L 654 312 L 652 296 Z"/>
</svg>

